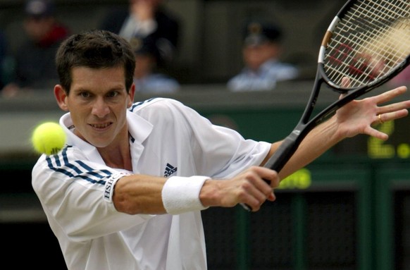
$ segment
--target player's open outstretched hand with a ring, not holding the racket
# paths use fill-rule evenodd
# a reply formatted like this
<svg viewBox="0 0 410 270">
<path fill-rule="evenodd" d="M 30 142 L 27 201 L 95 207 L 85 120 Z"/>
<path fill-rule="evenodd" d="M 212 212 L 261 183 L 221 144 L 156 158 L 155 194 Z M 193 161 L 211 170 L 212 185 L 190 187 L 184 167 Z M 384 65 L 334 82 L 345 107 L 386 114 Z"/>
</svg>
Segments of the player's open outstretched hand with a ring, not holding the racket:
<svg viewBox="0 0 410 270">
<path fill-rule="evenodd" d="M 373 126 L 407 116 L 410 100 L 380 105 L 391 101 L 406 91 L 407 88 L 404 86 L 397 87 L 374 97 L 353 100 L 342 106 L 336 111 L 338 132 L 341 133 L 342 137 L 366 134 L 380 140 L 387 140 L 388 135 L 373 128 Z"/>
</svg>

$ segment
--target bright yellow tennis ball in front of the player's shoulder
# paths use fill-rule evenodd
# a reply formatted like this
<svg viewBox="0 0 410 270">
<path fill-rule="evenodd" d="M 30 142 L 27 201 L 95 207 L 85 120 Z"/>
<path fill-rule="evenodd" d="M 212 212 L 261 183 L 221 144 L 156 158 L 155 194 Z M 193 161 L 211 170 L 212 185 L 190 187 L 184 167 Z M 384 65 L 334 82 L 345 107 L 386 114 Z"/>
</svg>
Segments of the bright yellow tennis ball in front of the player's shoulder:
<svg viewBox="0 0 410 270">
<path fill-rule="evenodd" d="M 66 133 L 58 123 L 42 123 L 32 133 L 32 145 L 40 154 L 57 154 L 65 144 Z"/>
</svg>

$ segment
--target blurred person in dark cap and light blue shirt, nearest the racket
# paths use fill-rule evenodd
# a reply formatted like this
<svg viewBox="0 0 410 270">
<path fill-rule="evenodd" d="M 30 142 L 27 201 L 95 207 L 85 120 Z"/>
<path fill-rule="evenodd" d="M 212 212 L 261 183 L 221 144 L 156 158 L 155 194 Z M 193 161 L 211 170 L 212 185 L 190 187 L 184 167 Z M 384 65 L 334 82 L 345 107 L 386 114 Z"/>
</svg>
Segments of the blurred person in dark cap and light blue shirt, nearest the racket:
<svg viewBox="0 0 410 270">
<path fill-rule="evenodd" d="M 244 68 L 230 80 L 232 92 L 273 90 L 276 82 L 297 78 L 299 70 L 279 60 L 282 31 L 271 23 L 251 22 L 244 31 Z"/>
</svg>

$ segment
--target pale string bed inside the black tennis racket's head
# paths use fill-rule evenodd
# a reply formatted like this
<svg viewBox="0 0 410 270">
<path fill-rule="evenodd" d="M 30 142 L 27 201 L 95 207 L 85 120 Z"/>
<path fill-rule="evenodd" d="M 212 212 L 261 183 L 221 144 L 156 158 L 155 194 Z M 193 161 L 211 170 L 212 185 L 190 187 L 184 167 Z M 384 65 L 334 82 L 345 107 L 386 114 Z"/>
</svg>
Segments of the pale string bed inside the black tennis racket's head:
<svg viewBox="0 0 410 270">
<path fill-rule="evenodd" d="M 359 87 L 388 75 L 410 54 L 408 0 L 356 1 L 336 20 L 324 70 L 335 85 Z"/>
</svg>

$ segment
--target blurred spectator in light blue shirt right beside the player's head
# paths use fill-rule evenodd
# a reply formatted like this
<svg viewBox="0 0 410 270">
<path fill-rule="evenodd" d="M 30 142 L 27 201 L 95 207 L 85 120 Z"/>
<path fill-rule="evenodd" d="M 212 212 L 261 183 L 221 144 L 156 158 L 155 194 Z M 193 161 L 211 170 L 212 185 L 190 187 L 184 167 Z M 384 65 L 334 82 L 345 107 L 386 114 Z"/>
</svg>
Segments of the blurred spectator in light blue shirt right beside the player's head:
<svg viewBox="0 0 410 270">
<path fill-rule="evenodd" d="M 160 73 L 157 70 L 159 50 L 156 40 L 152 37 L 140 39 L 134 42 L 135 52 L 135 90 L 142 93 L 170 93 L 176 92 L 180 84 L 178 80 Z"/>
</svg>

